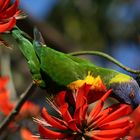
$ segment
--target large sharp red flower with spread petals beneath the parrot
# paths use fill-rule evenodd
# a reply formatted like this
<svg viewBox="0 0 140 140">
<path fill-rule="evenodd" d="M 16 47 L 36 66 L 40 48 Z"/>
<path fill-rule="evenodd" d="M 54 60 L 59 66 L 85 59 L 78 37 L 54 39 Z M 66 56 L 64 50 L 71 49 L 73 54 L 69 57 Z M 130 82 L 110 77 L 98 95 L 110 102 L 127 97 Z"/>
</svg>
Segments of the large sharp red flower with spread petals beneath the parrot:
<svg viewBox="0 0 140 140">
<path fill-rule="evenodd" d="M 132 109 L 131 106 L 120 103 L 103 109 L 111 92 L 107 91 L 90 112 L 87 98 L 90 93 L 89 85 L 77 90 L 74 108 L 66 101 L 66 92 L 60 92 L 56 96 L 55 104 L 50 102 L 58 115 L 50 115 L 43 108 L 43 120 L 36 119 L 41 138 L 115 140 L 125 137 L 134 126 L 126 116 Z"/>
</svg>

